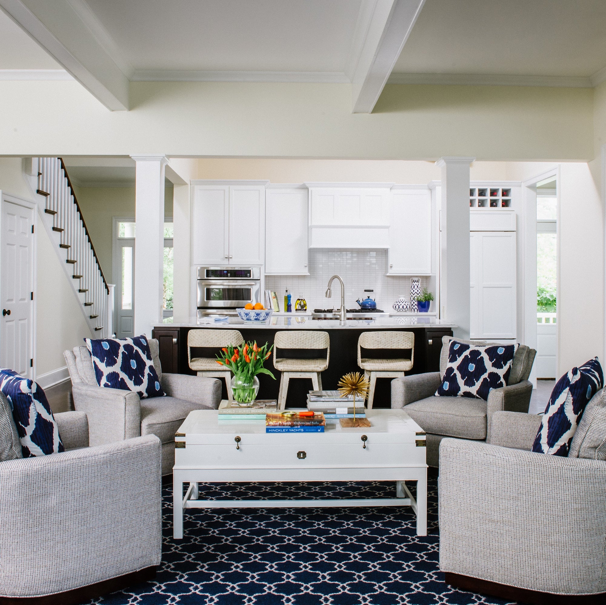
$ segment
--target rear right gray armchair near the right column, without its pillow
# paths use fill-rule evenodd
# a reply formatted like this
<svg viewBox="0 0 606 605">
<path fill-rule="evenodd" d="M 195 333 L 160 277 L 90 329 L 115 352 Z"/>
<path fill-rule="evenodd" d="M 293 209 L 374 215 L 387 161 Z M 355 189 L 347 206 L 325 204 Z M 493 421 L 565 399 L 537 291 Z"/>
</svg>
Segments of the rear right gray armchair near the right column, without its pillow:
<svg viewBox="0 0 606 605">
<path fill-rule="evenodd" d="M 442 338 L 440 371 L 411 374 L 391 381 L 391 408 L 404 408 L 419 427 L 427 433 L 427 464 L 438 466 L 440 441 L 444 437 L 490 441 L 491 417 L 496 411 L 527 412 L 532 394 L 528 381 L 536 351 L 520 345 L 511 364 L 509 385 L 494 388 L 484 399 L 470 397 L 436 397 L 448 363 L 448 343 L 452 336 Z M 459 339 L 457 339 L 459 340 Z M 459 341 L 468 344 L 490 342 Z"/>
</svg>

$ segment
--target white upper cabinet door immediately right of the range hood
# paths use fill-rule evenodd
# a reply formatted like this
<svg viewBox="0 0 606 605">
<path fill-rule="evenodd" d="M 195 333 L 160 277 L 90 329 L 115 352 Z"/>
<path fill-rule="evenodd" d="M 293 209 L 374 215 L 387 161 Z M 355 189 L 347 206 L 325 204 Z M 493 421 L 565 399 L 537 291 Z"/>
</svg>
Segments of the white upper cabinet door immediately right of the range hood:
<svg viewBox="0 0 606 605">
<path fill-rule="evenodd" d="M 388 275 L 431 273 L 431 192 L 395 191 L 391 198 Z"/>
</svg>

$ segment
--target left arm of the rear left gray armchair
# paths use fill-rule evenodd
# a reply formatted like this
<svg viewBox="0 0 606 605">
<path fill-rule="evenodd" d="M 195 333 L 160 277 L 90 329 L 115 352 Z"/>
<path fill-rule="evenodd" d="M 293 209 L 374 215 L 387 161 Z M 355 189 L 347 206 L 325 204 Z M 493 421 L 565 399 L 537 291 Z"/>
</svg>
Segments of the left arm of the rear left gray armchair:
<svg viewBox="0 0 606 605">
<path fill-rule="evenodd" d="M 74 407 L 88 417 L 90 445 L 141 435 L 141 402 L 133 391 L 73 384 Z"/>
</svg>

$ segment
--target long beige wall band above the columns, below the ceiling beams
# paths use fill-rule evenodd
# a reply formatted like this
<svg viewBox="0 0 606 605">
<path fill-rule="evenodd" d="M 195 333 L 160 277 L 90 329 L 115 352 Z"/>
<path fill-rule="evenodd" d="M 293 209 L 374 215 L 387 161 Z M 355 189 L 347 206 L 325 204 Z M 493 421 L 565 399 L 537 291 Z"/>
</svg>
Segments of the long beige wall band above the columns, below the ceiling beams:
<svg viewBox="0 0 606 605">
<path fill-rule="evenodd" d="M 4 155 L 591 160 L 589 88 L 387 85 L 372 114 L 348 84 L 132 82 L 108 111 L 79 83 L 0 82 Z"/>
</svg>

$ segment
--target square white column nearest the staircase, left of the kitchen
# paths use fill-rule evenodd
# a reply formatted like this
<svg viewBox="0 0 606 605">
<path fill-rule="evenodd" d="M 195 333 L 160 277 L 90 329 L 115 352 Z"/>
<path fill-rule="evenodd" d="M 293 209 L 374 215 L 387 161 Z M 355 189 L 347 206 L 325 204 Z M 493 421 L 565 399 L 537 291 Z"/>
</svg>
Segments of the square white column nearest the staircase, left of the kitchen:
<svg viewBox="0 0 606 605">
<path fill-rule="evenodd" d="M 162 323 L 164 155 L 132 155 L 135 177 L 135 336 Z"/>
</svg>

